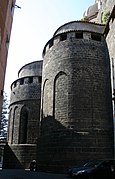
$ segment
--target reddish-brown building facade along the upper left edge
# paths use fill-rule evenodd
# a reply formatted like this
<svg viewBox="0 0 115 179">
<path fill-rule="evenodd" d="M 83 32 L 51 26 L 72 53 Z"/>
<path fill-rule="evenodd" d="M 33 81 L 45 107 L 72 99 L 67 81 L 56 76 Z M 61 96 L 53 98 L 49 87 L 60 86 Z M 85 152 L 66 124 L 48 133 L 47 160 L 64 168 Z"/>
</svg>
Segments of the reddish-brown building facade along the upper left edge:
<svg viewBox="0 0 115 179">
<path fill-rule="evenodd" d="M 15 0 L 0 1 L 0 116 Z"/>
</svg>

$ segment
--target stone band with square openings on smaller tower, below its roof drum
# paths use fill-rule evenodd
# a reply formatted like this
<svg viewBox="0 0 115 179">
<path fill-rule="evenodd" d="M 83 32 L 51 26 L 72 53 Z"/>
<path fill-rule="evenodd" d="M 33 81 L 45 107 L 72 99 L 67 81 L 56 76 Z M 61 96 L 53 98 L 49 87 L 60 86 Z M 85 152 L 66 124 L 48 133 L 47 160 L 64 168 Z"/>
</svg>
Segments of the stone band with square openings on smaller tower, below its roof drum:
<svg viewBox="0 0 115 179">
<path fill-rule="evenodd" d="M 32 77 L 32 83 L 29 82 L 31 77 L 19 78 L 11 85 L 10 105 L 24 100 L 39 100 L 41 96 L 41 77 Z M 23 84 L 20 84 L 23 80 Z"/>
</svg>

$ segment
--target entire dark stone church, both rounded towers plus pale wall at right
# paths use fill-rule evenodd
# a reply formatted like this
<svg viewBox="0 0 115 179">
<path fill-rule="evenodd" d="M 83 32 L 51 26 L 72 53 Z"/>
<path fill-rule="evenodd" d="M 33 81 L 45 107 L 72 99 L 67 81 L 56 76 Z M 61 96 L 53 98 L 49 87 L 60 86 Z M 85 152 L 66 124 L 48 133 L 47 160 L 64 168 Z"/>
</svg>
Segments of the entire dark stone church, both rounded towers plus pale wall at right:
<svg viewBox="0 0 115 179">
<path fill-rule="evenodd" d="M 4 168 L 65 171 L 114 158 L 115 1 L 98 0 L 81 21 L 60 26 L 43 61 L 11 84 Z M 12 163 L 10 162 L 12 158 Z"/>
</svg>

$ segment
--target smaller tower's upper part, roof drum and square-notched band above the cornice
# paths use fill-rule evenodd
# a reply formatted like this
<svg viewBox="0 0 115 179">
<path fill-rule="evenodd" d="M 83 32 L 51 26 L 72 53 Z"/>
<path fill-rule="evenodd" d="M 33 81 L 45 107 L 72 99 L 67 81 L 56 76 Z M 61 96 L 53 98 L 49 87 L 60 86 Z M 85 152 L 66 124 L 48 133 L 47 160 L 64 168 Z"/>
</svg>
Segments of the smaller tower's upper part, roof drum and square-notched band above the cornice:
<svg viewBox="0 0 115 179">
<path fill-rule="evenodd" d="M 20 101 L 40 100 L 42 63 L 34 61 L 19 70 L 18 79 L 11 84 L 10 106 Z"/>
</svg>

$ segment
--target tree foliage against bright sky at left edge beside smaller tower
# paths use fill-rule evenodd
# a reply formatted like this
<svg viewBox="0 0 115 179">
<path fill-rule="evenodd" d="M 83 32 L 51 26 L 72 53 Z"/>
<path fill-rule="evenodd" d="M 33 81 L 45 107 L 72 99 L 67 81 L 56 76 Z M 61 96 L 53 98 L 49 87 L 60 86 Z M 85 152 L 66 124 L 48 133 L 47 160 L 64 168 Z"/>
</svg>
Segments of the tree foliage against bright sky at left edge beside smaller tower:
<svg viewBox="0 0 115 179">
<path fill-rule="evenodd" d="M 4 93 L 3 105 L 2 105 L 2 116 L 0 122 L 0 139 L 6 140 L 8 127 L 8 100 L 7 95 Z"/>
</svg>

